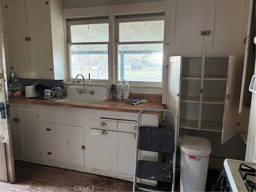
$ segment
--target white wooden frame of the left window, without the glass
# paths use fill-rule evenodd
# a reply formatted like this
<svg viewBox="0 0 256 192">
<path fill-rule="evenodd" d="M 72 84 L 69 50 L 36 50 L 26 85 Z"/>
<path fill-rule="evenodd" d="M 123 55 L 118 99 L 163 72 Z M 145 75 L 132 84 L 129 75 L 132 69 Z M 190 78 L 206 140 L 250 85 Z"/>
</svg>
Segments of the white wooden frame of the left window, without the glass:
<svg viewBox="0 0 256 192">
<path fill-rule="evenodd" d="M 107 16 L 108 17 L 108 16 Z M 81 24 L 100 24 L 100 23 L 108 23 L 108 27 L 110 28 L 109 18 L 107 17 L 91 17 L 91 18 L 78 18 L 78 19 L 66 19 L 66 54 L 67 54 L 67 72 L 68 72 L 68 81 L 73 82 L 75 78 L 71 78 L 70 74 L 70 45 L 97 45 L 97 44 L 106 44 L 108 45 L 108 80 L 99 80 L 99 79 L 91 79 L 92 83 L 101 83 L 101 84 L 110 84 L 110 30 L 108 32 L 108 42 L 71 42 L 71 26 L 73 25 L 81 25 Z M 79 76 L 79 80 L 81 76 Z"/>
</svg>

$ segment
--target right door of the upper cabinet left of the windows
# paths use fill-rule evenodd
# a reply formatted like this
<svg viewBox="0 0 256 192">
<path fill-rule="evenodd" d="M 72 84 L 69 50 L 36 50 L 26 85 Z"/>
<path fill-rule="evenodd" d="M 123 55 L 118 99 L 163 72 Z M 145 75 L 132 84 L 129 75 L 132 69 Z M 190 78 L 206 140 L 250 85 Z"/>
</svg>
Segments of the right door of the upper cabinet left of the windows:
<svg viewBox="0 0 256 192">
<path fill-rule="evenodd" d="M 50 4 L 26 0 L 26 21 L 31 78 L 53 78 L 50 70 Z"/>
</svg>

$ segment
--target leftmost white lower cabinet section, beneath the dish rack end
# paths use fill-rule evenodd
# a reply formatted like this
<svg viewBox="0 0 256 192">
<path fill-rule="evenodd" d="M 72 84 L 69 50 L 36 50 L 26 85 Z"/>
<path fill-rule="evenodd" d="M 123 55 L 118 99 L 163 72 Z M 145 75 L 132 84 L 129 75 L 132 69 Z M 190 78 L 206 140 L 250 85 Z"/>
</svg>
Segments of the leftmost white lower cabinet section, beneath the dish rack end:
<svg viewBox="0 0 256 192">
<path fill-rule="evenodd" d="M 14 158 L 40 161 L 38 108 L 10 107 Z"/>
</svg>

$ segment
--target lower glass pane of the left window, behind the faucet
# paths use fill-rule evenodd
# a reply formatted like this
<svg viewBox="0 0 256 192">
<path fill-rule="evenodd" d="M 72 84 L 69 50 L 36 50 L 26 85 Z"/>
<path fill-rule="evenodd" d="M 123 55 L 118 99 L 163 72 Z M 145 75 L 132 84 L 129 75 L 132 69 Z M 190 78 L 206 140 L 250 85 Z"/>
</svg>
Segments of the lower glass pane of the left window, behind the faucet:
<svg viewBox="0 0 256 192">
<path fill-rule="evenodd" d="M 108 45 L 70 45 L 70 77 L 108 80 Z"/>
</svg>

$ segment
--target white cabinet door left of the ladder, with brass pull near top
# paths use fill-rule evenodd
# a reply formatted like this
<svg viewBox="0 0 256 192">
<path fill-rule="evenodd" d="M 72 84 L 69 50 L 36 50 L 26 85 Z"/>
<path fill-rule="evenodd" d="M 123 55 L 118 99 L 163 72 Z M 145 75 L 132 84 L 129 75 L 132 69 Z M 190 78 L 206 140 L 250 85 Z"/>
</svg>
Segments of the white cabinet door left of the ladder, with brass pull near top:
<svg viewBox="0 0 256 192">
<path fill-rule="evenodd" d="M 92 168 L 118 172 L 117 132 L 92 129 Z"/>
</svg>

